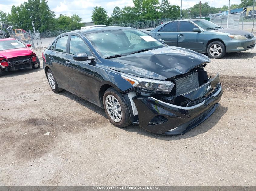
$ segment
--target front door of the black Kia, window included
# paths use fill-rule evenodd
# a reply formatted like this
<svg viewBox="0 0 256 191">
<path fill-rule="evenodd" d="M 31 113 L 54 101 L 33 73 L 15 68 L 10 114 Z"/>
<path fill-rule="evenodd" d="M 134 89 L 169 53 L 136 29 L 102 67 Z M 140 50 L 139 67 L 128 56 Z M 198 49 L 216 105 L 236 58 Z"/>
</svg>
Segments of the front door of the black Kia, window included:
<svg viewBox="0 0 256 191">
<path fill-rule="evenodd" d="M 68 74 L 69 88 L 90 100 L 98 102 L 95 86 L 95 66 L 92 61 L 76 61 L 73 55 L 76 53 L 87 53 L 92 56 L 90 49 L 84 41 L 77 36 L 71 36 L 69 54 L 65 58 L 66 71 Z"/>
</svg>

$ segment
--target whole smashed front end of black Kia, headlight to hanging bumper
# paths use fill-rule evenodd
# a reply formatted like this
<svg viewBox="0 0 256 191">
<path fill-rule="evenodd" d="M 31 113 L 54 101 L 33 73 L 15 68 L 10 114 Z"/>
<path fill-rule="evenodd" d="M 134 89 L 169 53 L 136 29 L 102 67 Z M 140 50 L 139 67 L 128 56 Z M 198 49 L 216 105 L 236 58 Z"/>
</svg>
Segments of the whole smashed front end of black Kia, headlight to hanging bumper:
<svg viewBox="0 0 256 191">
<path fill-rule="evenodd" d="M 219 74 L 208 77 L 205 65 L 165 81 L 141 83 L 142 78 L 121 74 L 134 86 L 123 92 L 131 101 L 133 123 L 156 134 L 171 135 L 184 134 L 207 119 L 218 107 L 223 90 Z"/>
</svg>

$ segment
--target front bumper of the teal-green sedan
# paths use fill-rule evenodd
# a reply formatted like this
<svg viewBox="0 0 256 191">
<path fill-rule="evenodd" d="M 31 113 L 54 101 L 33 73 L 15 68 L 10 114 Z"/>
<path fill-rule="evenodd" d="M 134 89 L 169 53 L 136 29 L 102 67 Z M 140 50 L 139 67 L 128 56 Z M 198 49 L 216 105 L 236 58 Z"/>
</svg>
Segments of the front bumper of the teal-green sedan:
<svg viewBox="0 0 256 191">
<path fill-rule="evenodd" d="M 253 37 L 252 39 L 244 39 L 244 40 L 224 40 L 224 43 L 226 45 L 226 52 L 232 53 L 232 52 L 240 52 L 249 50 L 255 47 L 256 38 Z M 236 47 L 243 47 L 244 49 L 237 49 Z"/>
</svg>

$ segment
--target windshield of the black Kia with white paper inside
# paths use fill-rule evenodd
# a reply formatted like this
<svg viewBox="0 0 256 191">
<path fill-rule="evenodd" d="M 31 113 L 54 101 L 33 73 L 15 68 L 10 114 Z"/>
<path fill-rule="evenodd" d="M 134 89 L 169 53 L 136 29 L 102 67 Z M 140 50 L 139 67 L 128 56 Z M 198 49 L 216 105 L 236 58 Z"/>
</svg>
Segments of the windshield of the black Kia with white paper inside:
<svg viewBox="0 0 256 191">
<path fill-rule="evenodd" d="M 92 33 L 87 37 L 103 58 L 165 47 L 155 38 L 137 29 L 110 30 Z"/>
</svg>

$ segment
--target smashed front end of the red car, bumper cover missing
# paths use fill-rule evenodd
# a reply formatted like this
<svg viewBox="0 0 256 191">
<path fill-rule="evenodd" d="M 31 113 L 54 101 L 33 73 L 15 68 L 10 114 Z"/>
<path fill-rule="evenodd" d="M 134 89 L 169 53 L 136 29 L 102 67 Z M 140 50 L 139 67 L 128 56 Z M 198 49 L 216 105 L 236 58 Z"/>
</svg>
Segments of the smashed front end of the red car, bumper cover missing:
<svg viewBox="0 0 256 191">
<path fill-rule="evenodd" d="M 17 56 L 14 58 L 0 58 L 0 67 L 5 71 L 19 70 L 31 66 L 38 67 L 37 57 L 35 53 L 27 56 Z"/>
</svg>

